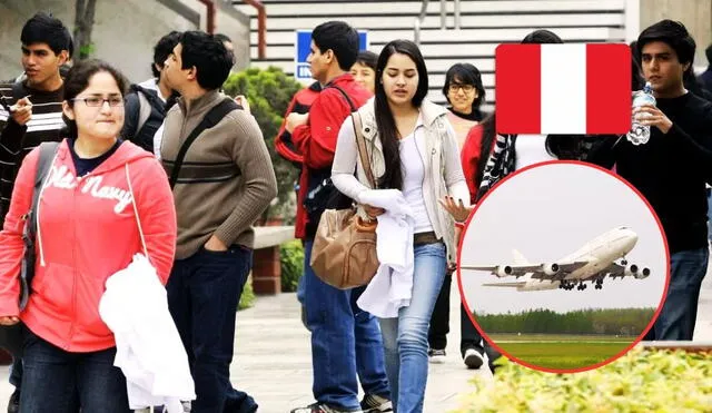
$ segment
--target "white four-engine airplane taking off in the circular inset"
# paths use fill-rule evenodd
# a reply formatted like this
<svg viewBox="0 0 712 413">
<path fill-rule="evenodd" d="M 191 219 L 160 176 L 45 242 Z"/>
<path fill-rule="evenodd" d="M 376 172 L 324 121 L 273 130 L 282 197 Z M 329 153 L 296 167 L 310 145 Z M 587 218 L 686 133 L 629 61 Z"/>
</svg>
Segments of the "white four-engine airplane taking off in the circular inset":
<svg viewBox="0 0 712 413">
<path fill-rule="evenodd" d="M 556 263 L 532 264 L 520 252 L 513 250 L 512 265 L 461 265 L 461 269 L 488 271 L 497 277 L 516 277 L 516 282 L 483 284 L 490 287 L 513 287 L 521 292 L 541 289 L 586 289 L 584 282 L 603 288 L 606 276 L 623 278 L 632 276 L 643 279 L 650 276 L 649 268 L 629 264 L 625 255 L 637 243 L 637 234 L 629 227 L 617 227 L 595 237 L 575 253 Z M 615 260 L 622 258 L 620 263 Z M 520 277 L 523 277 L 521 281 Z"/>
</svg>

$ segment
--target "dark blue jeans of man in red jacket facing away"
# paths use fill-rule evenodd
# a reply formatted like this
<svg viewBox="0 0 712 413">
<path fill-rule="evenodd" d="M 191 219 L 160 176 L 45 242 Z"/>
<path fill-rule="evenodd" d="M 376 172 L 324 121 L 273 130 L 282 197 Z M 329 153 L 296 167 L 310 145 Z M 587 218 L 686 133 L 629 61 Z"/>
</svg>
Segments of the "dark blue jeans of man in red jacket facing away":
<svg viewBox="0 0 712 413">
<path fill-rule="evenodd" d="M 390 394 L 378 323 L 356 305 L 364 287 L 338 289 L 314 274 L 312 245 L 312 240 L 305 243 L 303 279 L 314 399 L 335 409 L 360 410 L 357 376 L 366 394 L 386 399 Z"/>
</svg>

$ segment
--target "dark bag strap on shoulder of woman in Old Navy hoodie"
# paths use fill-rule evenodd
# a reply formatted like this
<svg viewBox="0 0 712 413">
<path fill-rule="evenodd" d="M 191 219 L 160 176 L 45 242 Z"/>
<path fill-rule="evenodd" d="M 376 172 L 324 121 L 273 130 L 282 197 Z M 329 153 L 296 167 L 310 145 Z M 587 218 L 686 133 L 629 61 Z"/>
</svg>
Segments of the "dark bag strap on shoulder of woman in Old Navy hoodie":
<svg viewBox="0 0 712 413">
<path fill-rule="evenodd" d="M 32 205 L 30 206 L 30 210 L 27 213 L 24 229 L 22 230 L 24 259 L 22 259 L 21 271 L 20 309 L 24 308 L 27 305 L 27 301 L 30 295 L 29 287 L 32 285 L 32 278 L 34 276 L 34 240 L 38 225 L 37 207 L 58 148 L 59 142 L 40 144 L 40 156 L 37 160 L 37 173 L 34 174 L 34 186 L 32 187 Z"/>
</svg>

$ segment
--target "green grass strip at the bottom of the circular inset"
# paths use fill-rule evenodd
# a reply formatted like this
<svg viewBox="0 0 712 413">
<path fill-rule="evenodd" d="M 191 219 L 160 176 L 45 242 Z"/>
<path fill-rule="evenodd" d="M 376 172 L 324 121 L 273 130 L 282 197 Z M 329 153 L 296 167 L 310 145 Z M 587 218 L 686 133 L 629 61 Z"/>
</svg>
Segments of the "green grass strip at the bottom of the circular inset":
<svg viewBox="0 0 712 413">
<path fill-rule="evenodd" d="M 635 337 L 490 334 L 497 346 L 523 362 L 546 368 L 581 368 L 601 363 L 625 350 Z"/>
</svg>

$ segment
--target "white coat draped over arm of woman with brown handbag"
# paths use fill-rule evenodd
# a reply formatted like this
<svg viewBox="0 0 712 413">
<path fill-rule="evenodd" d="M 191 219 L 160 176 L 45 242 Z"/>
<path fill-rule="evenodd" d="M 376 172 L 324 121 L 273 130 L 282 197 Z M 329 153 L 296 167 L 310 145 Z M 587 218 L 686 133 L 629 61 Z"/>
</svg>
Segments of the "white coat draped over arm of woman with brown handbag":
<svg viewBox="0 0 712 413">
<path fill-rule="evenodd" d="M 376 226 L 378 271 L 356 304 L 379 318 L 395 318 L 413 295 L 413 210 L 397 189 L 366 190 L 362 200 L 386 210 Z"/>
</svg>

